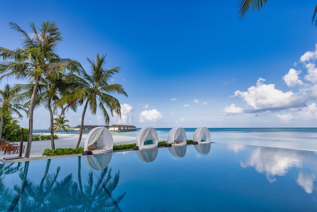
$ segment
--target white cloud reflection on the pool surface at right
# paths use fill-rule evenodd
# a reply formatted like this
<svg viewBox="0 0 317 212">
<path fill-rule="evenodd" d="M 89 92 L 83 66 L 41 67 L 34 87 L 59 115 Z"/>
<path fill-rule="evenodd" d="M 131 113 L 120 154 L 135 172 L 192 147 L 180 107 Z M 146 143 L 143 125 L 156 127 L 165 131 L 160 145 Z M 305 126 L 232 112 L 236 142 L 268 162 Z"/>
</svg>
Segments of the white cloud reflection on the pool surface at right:
<svg viewBox="0 0 317 212">
<path fill-rule="evenodd" d="M 227 147 L 239 154 L 247 146 L 227 145 Z M 314 182 L 317 176 L 317 154 L 315 152 L 256 147 L 247 158 L 246 161 L 241 161 L 240 165 L 244 168 L 254 167 L 257 172 L 265 173 L 266 179 L 270 183 L 276 181 L 275 176 L 285 176 L 292 167 L 296 167 L 299 170 L 296 183 L 306 193 L 310 194 L 315 190 Z"/>
</svg>

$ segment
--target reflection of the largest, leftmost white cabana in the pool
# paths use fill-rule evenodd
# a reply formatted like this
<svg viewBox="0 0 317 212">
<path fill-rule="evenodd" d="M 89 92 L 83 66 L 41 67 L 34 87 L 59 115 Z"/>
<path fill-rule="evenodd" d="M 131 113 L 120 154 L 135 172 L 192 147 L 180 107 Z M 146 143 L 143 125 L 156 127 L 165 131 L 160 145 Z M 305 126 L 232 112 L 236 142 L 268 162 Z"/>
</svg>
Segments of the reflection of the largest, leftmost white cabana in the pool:
<svg viewBox="0 0 317 212">
<path fill-rule="evenodd" d="M 84 155 L 83 157 L 91 169 L 102 170 L 109 165 L 112 158 L 112 152 L 97 155 Z"/>
</svg>

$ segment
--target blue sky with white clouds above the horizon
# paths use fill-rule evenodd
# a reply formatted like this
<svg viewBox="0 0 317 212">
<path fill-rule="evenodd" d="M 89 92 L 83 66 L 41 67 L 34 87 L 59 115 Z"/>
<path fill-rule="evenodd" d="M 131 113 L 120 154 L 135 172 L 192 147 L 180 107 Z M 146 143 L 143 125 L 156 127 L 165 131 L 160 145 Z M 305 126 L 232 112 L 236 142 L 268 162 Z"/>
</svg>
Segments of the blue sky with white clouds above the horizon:
<svg viewBox="0 0 317 212">
<path fill-rule="evenodd" d="M 0 46 L 20 47 L 15 22 L 29 31 L 55 21 L 58 54 L 80 61 L 107 54 L 119 66 L 113 83 L 122 117 L 136 127 L 317 127 L 315 1 L 268 1 L 239 20 L 238 1 L 43 1 L 1 3 Z M 17 83 L 15 79 L 1 82 Z M 68 112 L 80 124 L 83 108 Z M 85 124 L 102 125 L 88 111 Z M 28 127 L 28 120 L 20 120 Z M 48 128 L 49 113 L 34 112 L 33 128 Z"/>
</svg>

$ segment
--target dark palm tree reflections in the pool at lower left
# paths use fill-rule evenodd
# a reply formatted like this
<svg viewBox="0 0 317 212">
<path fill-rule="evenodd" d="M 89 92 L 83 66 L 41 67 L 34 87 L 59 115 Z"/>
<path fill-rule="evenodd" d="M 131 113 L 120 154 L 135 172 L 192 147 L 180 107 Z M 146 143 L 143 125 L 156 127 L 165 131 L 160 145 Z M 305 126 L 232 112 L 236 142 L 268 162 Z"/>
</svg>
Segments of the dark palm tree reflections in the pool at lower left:
<svg viewBox="0 0 317 212">
<path fill-rule="evenodd" d="M 81 176 L 81 157 L 78 157 L 78 182 L 72 173 L 58 180 L 60 167 L 49 173 L 51 160 L 47 161 L 43 178 L 39 184 L 27 178 L 29 162 L 0 164 L 0 207 L 5 211 L 121 211 L 118 203 L 126 193 L 112 197 L 120 172 L 111 176 L 111 168 L 106 167 L 99 175 L 89 171 L 87 183 L 83 185 Z M 21 185 L 10 188 L 3 183 L 7 174 L 20 171 Z M 97 179 L 97 180 L 94 180 Z"/>
</svg>

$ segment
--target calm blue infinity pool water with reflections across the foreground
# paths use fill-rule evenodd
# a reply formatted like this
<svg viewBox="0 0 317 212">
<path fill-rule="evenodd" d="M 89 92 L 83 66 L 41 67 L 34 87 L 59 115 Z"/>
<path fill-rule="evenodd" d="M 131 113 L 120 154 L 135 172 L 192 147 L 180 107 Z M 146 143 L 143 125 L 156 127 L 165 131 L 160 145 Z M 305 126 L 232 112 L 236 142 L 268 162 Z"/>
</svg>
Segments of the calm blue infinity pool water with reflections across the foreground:
<svg viewBox="0 0 317 212">
<path fill-rule="evenodd" d="M 316 211 L 317 153 L 189 145 L 0 165 L 0 210 Z"/>
</svg>

